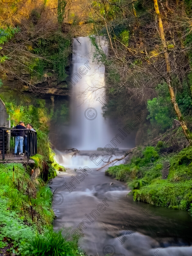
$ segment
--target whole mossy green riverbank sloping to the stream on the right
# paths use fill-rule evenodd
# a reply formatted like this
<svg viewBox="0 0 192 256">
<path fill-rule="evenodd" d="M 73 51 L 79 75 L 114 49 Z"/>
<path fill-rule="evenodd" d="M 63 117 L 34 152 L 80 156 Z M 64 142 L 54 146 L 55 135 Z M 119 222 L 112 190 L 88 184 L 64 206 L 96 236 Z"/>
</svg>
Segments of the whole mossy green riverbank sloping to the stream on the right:
<svg viewBox="0 0 192 256">
<path fill-rule="evenodd" d="M 134 201 L 189 211 L 192 216 L 192 147 L 170 153 L 166 149 L 162 141 L 155 147 L 137 147 L 128 164 L 109 167 L 105 174 L 126 181 Z"/>
</svg>

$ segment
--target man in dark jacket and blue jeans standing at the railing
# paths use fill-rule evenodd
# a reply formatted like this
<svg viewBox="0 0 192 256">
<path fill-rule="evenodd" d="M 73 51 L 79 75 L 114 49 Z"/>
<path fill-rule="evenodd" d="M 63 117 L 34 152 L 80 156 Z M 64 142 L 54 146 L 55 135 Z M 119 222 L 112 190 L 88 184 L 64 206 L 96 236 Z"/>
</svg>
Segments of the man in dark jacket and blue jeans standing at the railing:
<svg viewBox="0 0 192 256">
<path fill-rule="evenodd" d="M 20 145 L 20 155 L 24 155 L 23 154 L 23 137 L 24 137 L 24 130 L 23 129 L 27 129 L 25 126 L 22 125 L 23 122 L 20 121 L 19 125 L 15 126 L 16 131 L 16 136 L 15 136 L 15 156 L 17 155 L 17 149 L 18 146 Z M 20 130 L 21 129 L 21 130 Z"/>
</svg>

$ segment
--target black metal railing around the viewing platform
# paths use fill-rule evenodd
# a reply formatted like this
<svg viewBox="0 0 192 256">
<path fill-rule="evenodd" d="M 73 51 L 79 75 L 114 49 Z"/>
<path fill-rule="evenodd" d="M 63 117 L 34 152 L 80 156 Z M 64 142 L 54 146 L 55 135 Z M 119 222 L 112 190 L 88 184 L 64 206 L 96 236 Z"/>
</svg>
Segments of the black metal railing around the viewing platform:
<svg viewBox="0 0 192 256">
<path fill-rule="evenodd" d="M 27 158 L 37 154 L 37 133 L 28 129 L 0 127 L 0 155 L 2 155 L 2 160 L 5 159 L 5 156 L 9 158 L 20 154 L 26 155 Z"/>
</svg>

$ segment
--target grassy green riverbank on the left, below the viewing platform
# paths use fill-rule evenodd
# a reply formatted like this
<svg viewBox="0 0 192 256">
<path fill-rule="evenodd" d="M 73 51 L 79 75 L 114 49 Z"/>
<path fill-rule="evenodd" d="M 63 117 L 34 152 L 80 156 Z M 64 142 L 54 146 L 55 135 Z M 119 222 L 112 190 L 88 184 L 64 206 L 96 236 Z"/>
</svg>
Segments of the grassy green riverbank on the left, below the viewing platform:
<svg viewBox="0 0 192 256">
<path fill-rule="evenodd" d="M 31 169 L 0 164 L 0 255 L 85 255 L 77 239 L 53 232 L 53 194 L 40 176 L 31 179 Z"/>
</svg>

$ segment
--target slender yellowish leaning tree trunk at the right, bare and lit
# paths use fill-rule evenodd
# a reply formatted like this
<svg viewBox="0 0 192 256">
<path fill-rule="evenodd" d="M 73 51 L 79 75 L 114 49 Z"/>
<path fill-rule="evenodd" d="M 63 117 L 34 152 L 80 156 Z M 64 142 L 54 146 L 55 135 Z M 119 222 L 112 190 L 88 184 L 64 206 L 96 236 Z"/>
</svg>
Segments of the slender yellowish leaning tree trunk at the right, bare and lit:
<svg viewBox="0 0 192 256">
<path fill-rule="evenodd" d="M 171 102 L 172 102 L 173 107 L 175 109 L 176 115 L 179 119 L 180 125 L 183 129 L 183 133 L 184 133 L 186 139 L 189 141 L 189 144 L 192 145 L 192 136 L 191 136 L 191 134 L 190 134 L 190 132 L 187 128 L 187 125 L 186 125 L 186 123 L 183 119 L 183 116 L 180 112 L 179 106 L 176 102 L 175 92 L 174 92 L 174 89 L 172 87 L 171 74 L 170 74 L 171 65 L 170 65 L 170 61 L 169 61 L 169 54 L 168 54 L 168 51 L 167 51 L 165 33 L 164 33 L 164 29 L 163 29 L 161 14 L 159 12 L 158 2 L 157 2 L 157 0 L 153 0 L 153 2 L 154 2 L 155 13 L 157 14 L 157 17 L 158 17 L 159 36 L 161 38 L 162 45 L 163 45 L 164 52 L 165 52 L 164 56 L 165 56 L 165 63 L 166 63 L 166 67 L 167 67 L 167 85 L 168 85 L 168 88 L 169 88 L 169 94 L 170 94 L 170 97 L 171 97 Z"/>
</svg>

